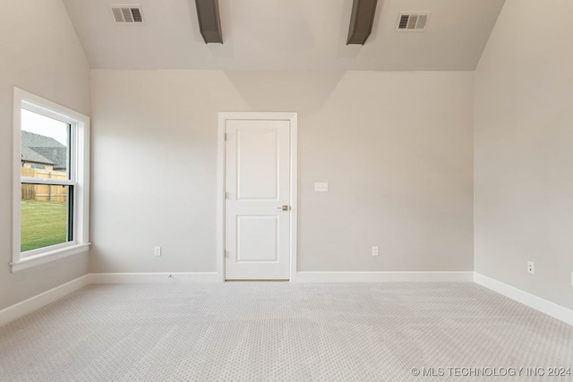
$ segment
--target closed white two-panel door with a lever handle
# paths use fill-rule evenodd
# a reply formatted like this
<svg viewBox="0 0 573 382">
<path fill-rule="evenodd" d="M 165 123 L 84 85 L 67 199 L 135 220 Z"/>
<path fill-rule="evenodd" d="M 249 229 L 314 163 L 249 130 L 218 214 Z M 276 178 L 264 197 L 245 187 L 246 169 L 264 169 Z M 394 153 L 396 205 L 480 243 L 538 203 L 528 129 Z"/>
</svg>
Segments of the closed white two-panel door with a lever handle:
<svg viewBox="0 0 573 382">
<path fill-rule="evenodd" d="M 226 121 L 225 278 L 288 280 L 290 121 Z"/>
</svg>

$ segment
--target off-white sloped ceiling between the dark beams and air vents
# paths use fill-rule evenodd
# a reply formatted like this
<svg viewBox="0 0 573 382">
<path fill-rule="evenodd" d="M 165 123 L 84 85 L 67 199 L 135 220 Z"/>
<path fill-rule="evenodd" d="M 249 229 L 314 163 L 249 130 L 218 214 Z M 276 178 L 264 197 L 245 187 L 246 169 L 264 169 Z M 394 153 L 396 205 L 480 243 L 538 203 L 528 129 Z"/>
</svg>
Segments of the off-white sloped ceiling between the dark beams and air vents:
<svg viewBox="0 0 573 382">
<path fill-rule="evenodd" d="M 63 1 L 97 69 L 473 71 L 505 0 L 379 0 L 364 46 L 346 46 L 352 0 L 219 0 L 223 45 L 194 0 Z M 146 25 L 109 4 L 141 4 Z M 402 11 L 431 12 L 426 31 L 396 32 Z"/>
</svg>

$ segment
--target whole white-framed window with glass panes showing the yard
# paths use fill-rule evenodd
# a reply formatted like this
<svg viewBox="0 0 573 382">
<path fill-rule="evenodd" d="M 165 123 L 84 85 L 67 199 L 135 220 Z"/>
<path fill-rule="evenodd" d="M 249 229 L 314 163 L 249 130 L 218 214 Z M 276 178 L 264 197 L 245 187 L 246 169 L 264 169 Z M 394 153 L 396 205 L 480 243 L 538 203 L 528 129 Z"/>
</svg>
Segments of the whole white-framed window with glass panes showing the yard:
<svg viewBox="0 0 573 382">
<path fill-rule="evenodd" d="M 89 249 L 90 119 L 14 89 L 12 271 Z"/>
</svg>

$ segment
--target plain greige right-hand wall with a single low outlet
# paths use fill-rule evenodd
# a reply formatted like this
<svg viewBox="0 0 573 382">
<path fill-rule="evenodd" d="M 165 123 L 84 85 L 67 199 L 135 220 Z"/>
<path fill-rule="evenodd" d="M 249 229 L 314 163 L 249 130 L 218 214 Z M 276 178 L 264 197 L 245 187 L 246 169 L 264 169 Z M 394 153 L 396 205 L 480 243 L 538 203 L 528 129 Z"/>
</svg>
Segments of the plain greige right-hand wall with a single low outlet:
<svg viewBox="0 0 573 382">
<path fill-rule="evenodd" d="M 507 0 L 475 72 L 475 270 L 569 309 L 572 14 Z"/>
</svg>

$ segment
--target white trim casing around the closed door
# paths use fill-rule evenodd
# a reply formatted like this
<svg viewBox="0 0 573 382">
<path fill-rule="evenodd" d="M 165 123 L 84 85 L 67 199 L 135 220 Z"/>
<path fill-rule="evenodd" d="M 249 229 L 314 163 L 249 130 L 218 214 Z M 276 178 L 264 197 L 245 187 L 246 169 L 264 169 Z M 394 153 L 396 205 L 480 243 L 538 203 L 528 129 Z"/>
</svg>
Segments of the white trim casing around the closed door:
<svg viewBox="0 0 573 382">
<path fill-rule="evenodd" d="M 219 112 L 218 113 L 218 155 L 217 155 L 217 275 L 225 282 L 225 162 L 227 120 L 271 120 L 290 122 L 290 281 L 295 281 L 297 252 L 297 145 L 298 115 L 295 112 Z"/>
</svg>

